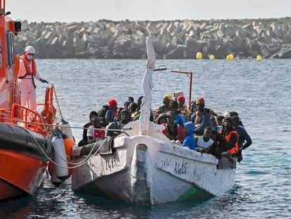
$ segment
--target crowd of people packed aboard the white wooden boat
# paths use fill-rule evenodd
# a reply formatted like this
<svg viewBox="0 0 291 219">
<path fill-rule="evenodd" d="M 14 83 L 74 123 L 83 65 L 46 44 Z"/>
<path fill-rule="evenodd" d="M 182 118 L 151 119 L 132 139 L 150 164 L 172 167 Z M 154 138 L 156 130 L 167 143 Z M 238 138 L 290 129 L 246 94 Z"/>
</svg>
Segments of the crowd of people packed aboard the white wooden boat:
<svg viewBox="0 0 291 219">
<path fill-rule="evenodd" d="M 90 122 L 84 125 L 83 139 L 79 146 L 98 139 L 120 134 L 124 125 L 138 120 L 143 96 L 129 96 L 123 106 L 116 99 L 110 99 L 100 111 L 92 111 Z M 171 141 L 201 153 L 213 154 L 216 158 L 233 156 L 243 160 L 242 151 L 252 144 L 238 113 L 226 111 L 224 115 L 205 107 L 205 100 L 198 97 L 186 106 L 183 95 L 166 94 L 162 106 L 152 111 L 150 120 L 163 125 L 162 133 Z"/>
</svg>

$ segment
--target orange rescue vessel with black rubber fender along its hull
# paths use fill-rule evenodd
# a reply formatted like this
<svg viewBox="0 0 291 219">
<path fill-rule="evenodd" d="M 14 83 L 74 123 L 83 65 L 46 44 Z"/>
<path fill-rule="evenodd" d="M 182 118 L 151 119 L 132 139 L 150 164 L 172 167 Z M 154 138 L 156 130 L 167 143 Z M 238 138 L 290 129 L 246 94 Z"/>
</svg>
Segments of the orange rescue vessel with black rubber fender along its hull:
<svg viewBox="0 0 291 219">
<path fill-rule="evenodd" d="M 38 104 L 40 113 L 20 105 L 14 36 L 21 31 L 21 23 L 7 16 L 10 12 L 5 11 L 5 4 L 5 0 L 0 0 L 0 201 L 34 195 L 46 177 L 48 161 L 58 165 L 56 151 L 66 158 L 65 145 L 52 139 L 56 125 L 53 85 L 46 88 L 44 103 Z M 34 118 L 33 122 L 30 118 Z M 56 150 L 56 146 L 60 149 Z M 58 166 L 66 170 L 65 165 Z M 61 180 L 65 177 L 61 169 L 53 172 L 58 172 Z"/>
</svg>

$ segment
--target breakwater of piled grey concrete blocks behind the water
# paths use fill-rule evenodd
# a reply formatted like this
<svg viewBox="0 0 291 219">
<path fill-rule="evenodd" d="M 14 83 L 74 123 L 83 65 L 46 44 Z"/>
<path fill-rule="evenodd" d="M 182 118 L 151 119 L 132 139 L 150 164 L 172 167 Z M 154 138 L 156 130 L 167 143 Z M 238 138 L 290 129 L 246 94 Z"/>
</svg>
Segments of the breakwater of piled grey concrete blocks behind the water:
<svg viewBox="0 0 291 219">
<path fill-rule="evenodd" d="M 145 39 L 157 33 L 157 58 L 291 58 L 291 18 L 160 20 L 81 23 L 22 22 L 15 54 L 38 58 L 146 58 Z"/>
</svg>

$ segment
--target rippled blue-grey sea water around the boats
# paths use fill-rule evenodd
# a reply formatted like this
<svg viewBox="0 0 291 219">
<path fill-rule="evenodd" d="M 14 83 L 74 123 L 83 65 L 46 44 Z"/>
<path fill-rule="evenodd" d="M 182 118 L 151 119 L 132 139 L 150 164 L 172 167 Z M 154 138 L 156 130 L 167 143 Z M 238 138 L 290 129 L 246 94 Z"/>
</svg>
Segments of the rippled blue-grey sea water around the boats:
<svg viewBox="0 0 291 219">
<path fill-rule="evenodd" d="M 71 125 L 82 127 L 90 111 L 114 97 L 142 94 L 145 60 L 38 60 L 43 78 L 56 87 L 60 108 Z M 225 196 L 160 206 L 131 206 L 75 194 L 70 180 L 55 189 L 49 180 L 37 196 L 2 202 L 1 218 L 291 218 L 291 60 L 158 60 L 168 69 L 194 72 L 193 97 L 214 111 L 235 110 L 252 137 L 238 164 L 235 187 Z M 166 93 L 183 90 L 186 75 L 155 72 L 153 106 Z M 37 98 L 44 100 L 44 85 Z M 82 137 L 82 130 L 73 130 Z"/>
</svg>

